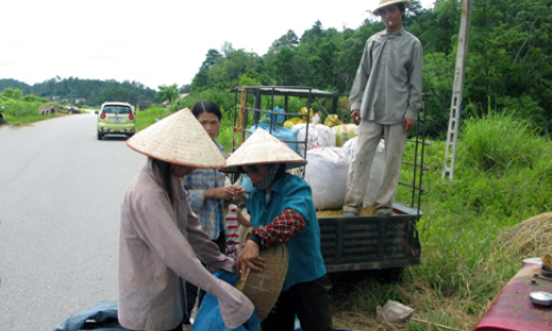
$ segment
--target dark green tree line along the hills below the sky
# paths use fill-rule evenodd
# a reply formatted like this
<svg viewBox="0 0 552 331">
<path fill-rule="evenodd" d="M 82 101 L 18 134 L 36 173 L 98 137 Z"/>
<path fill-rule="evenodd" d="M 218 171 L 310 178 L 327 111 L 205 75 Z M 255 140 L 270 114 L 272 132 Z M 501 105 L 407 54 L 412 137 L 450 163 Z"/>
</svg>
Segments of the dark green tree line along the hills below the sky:
<svg viewBox="0 0 552 331">
<path fill-rule="evenodd" d="M 412 0 L 404 19 L 405 29 L 424 46 L 424 93 L 428 94 L 425 111 L 433 119 L 428 135 L 435 138 L 444 138 L 448 128 L 461 8 L 461 0 L 436 0 L 433 8 L 426 9 Z M 160 103 L 179 93 L 227 93 L 238 85 L 309 86 L 349 93 L 365 41 L 383 29 L 376 17 L 343 31 L 325 29 L 317 21 L 300 38 L 289 30 L 264 55 L 234 49 L 226 42 L 221 50 L 208 50 L 190 84 L 159 86 L 159 92 L 137 82 L 73 77 L 56 77 L 33 86 L 17 81 L 19 86 L 14 86 L 13 79 L 0 79 L 0 90 L 11 87 L 36 96 L 85 97 L 86 104 L 93 106 L 106 99 Z M 495 110 L 512 113 L 549 136 L 551 30 L 552 0 L 474 0 L 463 118 Z"/>
</svg>

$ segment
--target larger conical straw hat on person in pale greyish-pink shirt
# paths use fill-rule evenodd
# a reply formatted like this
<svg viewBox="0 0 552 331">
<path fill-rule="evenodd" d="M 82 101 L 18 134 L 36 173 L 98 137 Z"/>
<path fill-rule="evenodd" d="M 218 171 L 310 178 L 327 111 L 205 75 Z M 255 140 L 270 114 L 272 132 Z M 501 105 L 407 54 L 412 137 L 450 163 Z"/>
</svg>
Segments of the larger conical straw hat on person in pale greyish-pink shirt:
<svg viewBox="0 0 552 331">
<path fill-rule="evenodd" d="M 127 140 L 148 157 L 194 168 L 219 168 L 225 159 L 190 109 L 181 109 Z"/>
</svg>

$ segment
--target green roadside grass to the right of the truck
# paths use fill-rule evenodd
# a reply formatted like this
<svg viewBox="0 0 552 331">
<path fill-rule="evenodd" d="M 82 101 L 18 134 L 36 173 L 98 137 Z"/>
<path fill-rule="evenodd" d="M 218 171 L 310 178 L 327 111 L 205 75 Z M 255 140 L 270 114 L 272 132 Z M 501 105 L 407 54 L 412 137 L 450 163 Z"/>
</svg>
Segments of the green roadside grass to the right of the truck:
<svg viewBox="0 0 552 331">
<path fill-rule="evenodd" d="M 335 298 L 337 325 L 426 330 L 433 323 L 435 328 L 473 330 L 519 271 L 521 260 L 534 257 L 518 255 L 516 243 L 505 245 L 499 237 L 524 220 L 552 210 L 552 142 L 508 114 L 466 120 L 453 181 L 443 179 L 446 143 L 431 143 L 424 160 L 431 170 L 423 178 L 428 193 L 422 197 L 424 215 L 418 222 L 421 265 L 406 268 L 397 284 L 367 278 L 349 293 L 340 292 Z M 407 146 L 405 158 L 413 152 Z M 401 181 L 410 182 L 412 177 L 412 170 L 403 166 Z M 411 189 L 400 188 L 396 200 L 410 203 L 410 194 Z M 552 252 L 550 238 L 540 239 L 549 245 L 541 250 Z M 408 324 L 375 323 L 375 307 L 389 299 L 416 310 Z M 351 319 L 354 316 L 363 318 Z"/>
</svg>

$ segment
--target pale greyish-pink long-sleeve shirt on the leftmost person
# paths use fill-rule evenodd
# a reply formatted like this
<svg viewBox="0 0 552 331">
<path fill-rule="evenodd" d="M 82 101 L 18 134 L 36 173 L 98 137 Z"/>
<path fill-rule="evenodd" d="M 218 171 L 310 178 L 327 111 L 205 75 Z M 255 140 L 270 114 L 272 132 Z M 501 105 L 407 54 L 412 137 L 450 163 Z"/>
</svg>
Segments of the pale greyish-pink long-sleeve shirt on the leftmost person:
<svg viewBox="0 0 552 331">
<path fill-rule="evenodd" d="M 219 252 L 188 205 L 180 180 L 172 177 L 174 206 L 151 159 L 136 175 L 121 204 L 119 243 L 119 322 L 131 330 L 171 330 L 182 322 L 179 277 L 219 299 L 230 329 L 253 314 L 253 303 L 209 270 L 233 271 L 234 261 Z"/>
</svg>

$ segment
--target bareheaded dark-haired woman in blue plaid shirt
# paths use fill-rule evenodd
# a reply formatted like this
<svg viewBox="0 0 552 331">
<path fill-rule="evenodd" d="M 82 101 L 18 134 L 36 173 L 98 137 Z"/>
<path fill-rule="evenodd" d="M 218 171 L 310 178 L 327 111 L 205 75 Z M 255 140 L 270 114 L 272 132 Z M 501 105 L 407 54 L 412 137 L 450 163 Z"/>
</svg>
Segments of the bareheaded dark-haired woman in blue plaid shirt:
<svg viewBox="0 0 552 331">
<path fill-rule="evenodd" d="M 216 145 L 221 156 L 225 158 L 224 148 L 215 140 L 221 131 L 222 120 L 222 113 L 219 106 L 215 103 L 202 100 L 193 106 L 192 114 Z M 233 197 L 240 197 L 244 192 L 244 189 L 238 185 L 225 186 L 225 179 L 224 173 L 219 172 L 214 168 L 197 168 L 182 179 L 182 185 L 188 193 L 190 207 L 198 215 L 203 231 L 223 254 L 226 254 L 227 239 L 224 232 L 226 207 Z M 240 212 L 237 211 L 237 213 Z M 185 311 L 188 320 L 184 320 L 184 324 L 190 323 L 189 319 L 195 301 L 198 301 L 199 308 L 204 295 L 205 291 L 203 289 L 198 289 L 190 281 L 185 282 Z"/>
</svg>

